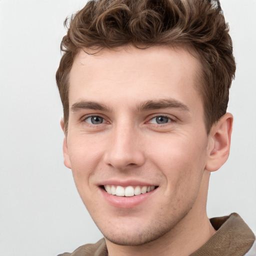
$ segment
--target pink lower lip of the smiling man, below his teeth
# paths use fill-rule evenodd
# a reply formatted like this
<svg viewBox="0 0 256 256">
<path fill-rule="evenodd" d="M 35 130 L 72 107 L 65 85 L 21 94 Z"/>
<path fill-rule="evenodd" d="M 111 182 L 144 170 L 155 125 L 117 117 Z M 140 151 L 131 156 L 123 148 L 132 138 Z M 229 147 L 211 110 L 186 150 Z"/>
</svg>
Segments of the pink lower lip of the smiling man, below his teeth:
<svg viewBox="0 0 256 256">
<path fill-rule="evenodd" d="M 132 208 L 135 207 L 144 201 L 146 201 L 149 197 L 151 197 L 157 188 L 153 189 L 150 192 L 146 192 L 144 194 L 134 195 L 134 196 L 117 196 L 113 194 L 107 193 L 104 189 L 99 188 L 101 194 L 104 199 L 112 206 L 118 208 Z"/>
</svg>

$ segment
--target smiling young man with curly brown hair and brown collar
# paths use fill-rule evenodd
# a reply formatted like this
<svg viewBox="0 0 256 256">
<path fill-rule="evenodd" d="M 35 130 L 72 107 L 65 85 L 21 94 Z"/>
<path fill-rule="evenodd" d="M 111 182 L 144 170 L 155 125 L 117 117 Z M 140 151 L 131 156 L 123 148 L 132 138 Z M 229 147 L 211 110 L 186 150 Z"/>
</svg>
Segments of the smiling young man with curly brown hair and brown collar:
<svg viewBox="0 0 256 256">
<path fill-rule="evenodd" d="M 255 237 L 239 215 L 206 215 L 233 120 L 219 3 L 89 1 L 61 49 L 64 164 L 104 236 L 71 255 L 245 255 Z"/>
</svg>

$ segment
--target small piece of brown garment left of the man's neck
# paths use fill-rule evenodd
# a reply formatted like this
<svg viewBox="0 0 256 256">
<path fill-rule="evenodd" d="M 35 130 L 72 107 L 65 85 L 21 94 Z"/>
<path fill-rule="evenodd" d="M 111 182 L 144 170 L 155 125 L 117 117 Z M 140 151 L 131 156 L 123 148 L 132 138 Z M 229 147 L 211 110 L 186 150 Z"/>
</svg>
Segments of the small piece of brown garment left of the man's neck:
<svg viewBox="0 0 256 256">
<path fill-rule="evenodd" d="M 104 238 L 96 243 L 87 243 L 79 246 L 72 253 L 65 252 L 57 256 L 107 256 L 107 249 Z"/>
</svg>

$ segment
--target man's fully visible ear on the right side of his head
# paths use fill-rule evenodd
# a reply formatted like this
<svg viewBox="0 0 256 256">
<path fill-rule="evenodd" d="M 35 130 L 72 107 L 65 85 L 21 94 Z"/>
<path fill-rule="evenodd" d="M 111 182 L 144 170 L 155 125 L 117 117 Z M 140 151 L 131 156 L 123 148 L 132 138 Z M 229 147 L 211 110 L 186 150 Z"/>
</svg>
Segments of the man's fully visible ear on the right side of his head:
<svg viewBox="0 0 256 256">
<path fill-rule="evenodd" d="M 213 124 L 209 134 L 209 150 L 205 169 L 215 171 L 227 160 L 230 149 L 233 116 L 225 113 Z"/>
</svg>

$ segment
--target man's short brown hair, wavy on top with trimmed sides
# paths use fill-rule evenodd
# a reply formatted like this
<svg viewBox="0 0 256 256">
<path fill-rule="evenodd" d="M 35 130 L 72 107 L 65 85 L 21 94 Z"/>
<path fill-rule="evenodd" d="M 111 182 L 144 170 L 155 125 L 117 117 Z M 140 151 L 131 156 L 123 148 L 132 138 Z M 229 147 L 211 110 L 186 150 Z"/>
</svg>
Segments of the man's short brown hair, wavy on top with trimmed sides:
<svg viewBox="0 0 256 256">
<path fill-rule="evenodd" d="M 65 20 L 56 81 L 68 123 L 69 72 L 81 48 L 116 48 L 131 44 L 181 46 L 201 63 L 200 95 L 207 132 L 226 112 L 235 72 L 232 41 L 219 2 L 210 0 L 90 0 Z"/>
</svg>

